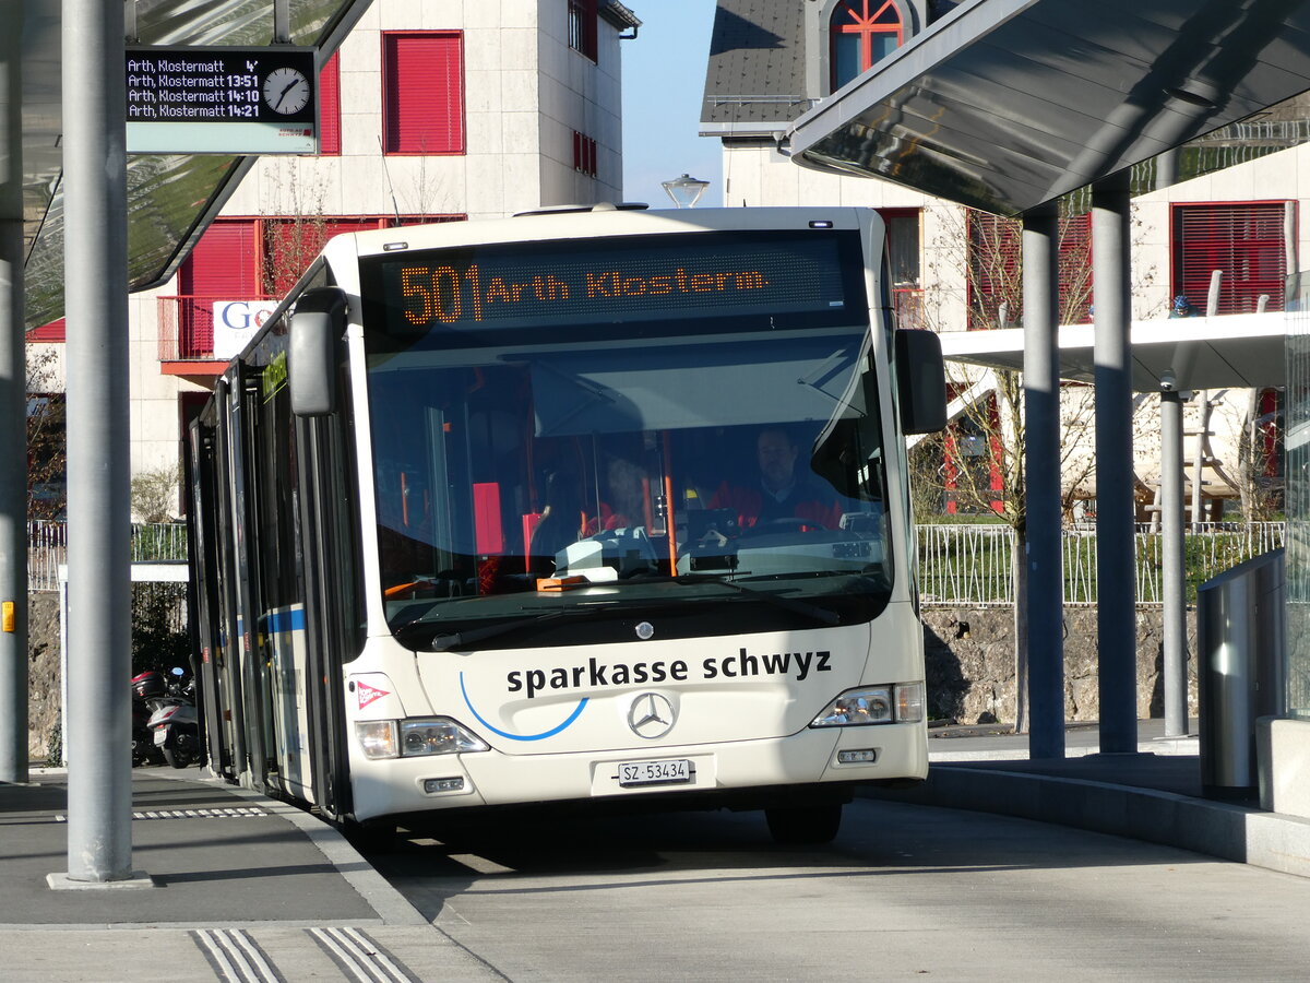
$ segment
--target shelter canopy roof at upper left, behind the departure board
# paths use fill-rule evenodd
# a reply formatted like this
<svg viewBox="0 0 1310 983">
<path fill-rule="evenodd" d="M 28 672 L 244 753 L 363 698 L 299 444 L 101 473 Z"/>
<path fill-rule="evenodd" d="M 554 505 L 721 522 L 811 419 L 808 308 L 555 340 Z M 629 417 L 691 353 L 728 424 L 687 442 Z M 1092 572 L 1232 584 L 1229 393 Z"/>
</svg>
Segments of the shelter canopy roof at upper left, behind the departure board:
<svg viewBox="0 0 1310 983">
<path fill-rule="evenodd" d="M 369 0 L 296 0 L 290 42 L 326 58 Z M 64 215 L 60 4 L 22 0 L 22 173 L 26 321 L 63 313 Z M 141 45 L 269 45 L 272 0 L 136 0 Z M 138 155 L 127 164 L 128 290 L 173 275 L 253 159 L 227 155 Z"/>
</svg>

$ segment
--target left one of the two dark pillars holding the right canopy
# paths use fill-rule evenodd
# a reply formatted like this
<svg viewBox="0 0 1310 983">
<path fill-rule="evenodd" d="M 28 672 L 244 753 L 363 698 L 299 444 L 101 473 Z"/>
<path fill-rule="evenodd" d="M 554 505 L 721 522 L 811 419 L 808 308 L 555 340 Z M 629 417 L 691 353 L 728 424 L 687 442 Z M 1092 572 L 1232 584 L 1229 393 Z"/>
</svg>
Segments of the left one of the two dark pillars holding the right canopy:
<svg viewBox="0 0 1310 983">
<path fill-rule="evenodd" d="M 1064 758 L 1060 554 L 1060 292 L 1055 206 L 1023 216 L 1023 417 L 1027 515 L 1028 756 Z"/>
</svg>

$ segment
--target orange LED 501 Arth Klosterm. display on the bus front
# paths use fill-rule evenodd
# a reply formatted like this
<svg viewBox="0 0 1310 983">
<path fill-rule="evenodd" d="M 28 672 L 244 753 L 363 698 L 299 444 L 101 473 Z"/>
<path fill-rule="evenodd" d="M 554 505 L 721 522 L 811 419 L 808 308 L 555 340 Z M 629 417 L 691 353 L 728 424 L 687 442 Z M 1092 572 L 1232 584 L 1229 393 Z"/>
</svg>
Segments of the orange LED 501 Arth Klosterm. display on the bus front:
<svg viewBox="0 0 1310 983">
<path fill-rule="evenodd" d="M 494 245 L 365 261 L 389 333 L 686 317 L 846 315 L 858 290 L 838 232 L 579 240 L 569 249 Z M 855 242 L 853 241 L 853 245 Z M 848 254 L 849 256 L 849 254 Z M 863 308 L 865 304 L 858 304 Z M 836 322 L 832 317 L 824 321 Z M 783 326 L 777 324 L 776 326 Z"/>
</svg>

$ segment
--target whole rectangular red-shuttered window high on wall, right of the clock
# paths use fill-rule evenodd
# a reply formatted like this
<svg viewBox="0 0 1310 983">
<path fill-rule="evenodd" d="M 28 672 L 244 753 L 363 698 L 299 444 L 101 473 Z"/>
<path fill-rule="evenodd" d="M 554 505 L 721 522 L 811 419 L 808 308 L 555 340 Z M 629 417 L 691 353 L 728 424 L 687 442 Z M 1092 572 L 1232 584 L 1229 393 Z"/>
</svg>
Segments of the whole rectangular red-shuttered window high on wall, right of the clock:
<svg viewBox="0 0 1310 983">
<path fill-rule="evenodd" d="M 383 35 L 386 153 L 464 153 L 464 37 L 458 31 Z"/>
</svg>

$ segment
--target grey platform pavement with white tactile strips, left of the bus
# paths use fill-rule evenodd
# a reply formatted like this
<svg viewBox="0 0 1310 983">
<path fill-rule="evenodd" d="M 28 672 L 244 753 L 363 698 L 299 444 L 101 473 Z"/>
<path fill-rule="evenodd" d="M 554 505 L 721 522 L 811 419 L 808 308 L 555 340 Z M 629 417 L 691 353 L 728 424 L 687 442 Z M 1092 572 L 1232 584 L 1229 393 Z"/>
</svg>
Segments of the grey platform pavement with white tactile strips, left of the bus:
<svg viewBox="0 0 1310 983">
<path fill-rule="evenodd" d="M 50 890 L 67 775 L 0 785 L 0 979 L 481 980 L 333 827 L 196 768 L 132 772 L 132 866 L 155 887 Z"/>
</svg>

